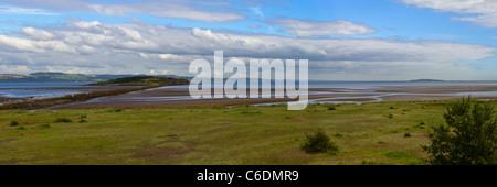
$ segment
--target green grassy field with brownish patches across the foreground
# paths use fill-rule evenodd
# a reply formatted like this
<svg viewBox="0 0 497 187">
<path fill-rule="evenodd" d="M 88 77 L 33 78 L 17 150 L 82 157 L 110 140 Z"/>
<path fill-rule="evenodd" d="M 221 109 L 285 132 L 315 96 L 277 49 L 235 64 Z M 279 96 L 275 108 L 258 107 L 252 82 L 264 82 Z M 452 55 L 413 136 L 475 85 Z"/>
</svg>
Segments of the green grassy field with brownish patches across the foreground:
<svg viewBox="0 0 497 187">
<path fill-rule="evenodd" d="M 3 110 L 0 164 L 425 164 L 447 102 Z M 299 148 L 319 128 L 338 154 Z"/>
</svg>

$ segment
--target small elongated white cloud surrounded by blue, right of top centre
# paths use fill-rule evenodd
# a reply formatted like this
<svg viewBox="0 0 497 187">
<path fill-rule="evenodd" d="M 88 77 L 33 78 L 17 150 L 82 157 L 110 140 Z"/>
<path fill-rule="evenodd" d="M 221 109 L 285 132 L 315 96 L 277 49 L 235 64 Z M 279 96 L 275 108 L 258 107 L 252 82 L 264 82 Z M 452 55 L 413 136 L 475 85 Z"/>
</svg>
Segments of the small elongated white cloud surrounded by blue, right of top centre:
<svg viewBox="0 0 497 187">
<path fill-rule="evenodd" d="M 362 35 L 377 32 L 377 30 L 371 29 L 366 24 L 346 20 L 310 21 L 289 18 L 275 18 L 268 23 L 286 28 L 282 32 L 302 37 L 324 35 Z"/>
</svg>

